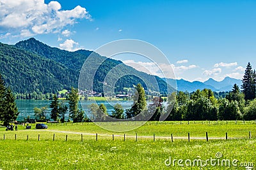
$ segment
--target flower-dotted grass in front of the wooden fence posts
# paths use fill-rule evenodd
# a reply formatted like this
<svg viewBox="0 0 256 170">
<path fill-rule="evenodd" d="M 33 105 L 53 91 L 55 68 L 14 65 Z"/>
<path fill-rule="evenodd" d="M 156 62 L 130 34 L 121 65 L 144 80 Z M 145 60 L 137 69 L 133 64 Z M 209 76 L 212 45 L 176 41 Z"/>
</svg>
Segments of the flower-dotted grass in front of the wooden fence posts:
<svg viewBox="0 0 256 170">
<path fill-rule="evenodd" d="M 1 169 L 200 169 L 200 166 L 166 166 L 166 159 L 237 159 L 255 162 L 256 140 L 230 141 L 0 141 Z M 173 166 L 174 165 L 174 166 Z M 211 166 L 205 169 L 228 169 Z M 229 169 L 237 169 L 230 166 Z M 239 167 L 245 169 L 245 167 Z"/>
</svg>

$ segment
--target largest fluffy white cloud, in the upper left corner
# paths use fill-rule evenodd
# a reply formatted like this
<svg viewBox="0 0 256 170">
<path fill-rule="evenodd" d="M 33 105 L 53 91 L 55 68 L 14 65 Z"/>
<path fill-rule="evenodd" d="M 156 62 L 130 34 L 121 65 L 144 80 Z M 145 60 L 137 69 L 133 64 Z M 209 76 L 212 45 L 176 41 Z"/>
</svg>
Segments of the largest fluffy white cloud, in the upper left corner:
<svg viewBox="0 0 256 170">
<path fill-rule="evenodd" d="M 65 26 L 74 25 L 82 18 L 92 20 L 85 8 L 76 6 L 72 10 L 61 10 L 57 1 L 49 4 L 45 4 L 44 0 L 0 2 L 0 29 L 11 30 L 14 36 L 61 32 Z"/>
</svg>

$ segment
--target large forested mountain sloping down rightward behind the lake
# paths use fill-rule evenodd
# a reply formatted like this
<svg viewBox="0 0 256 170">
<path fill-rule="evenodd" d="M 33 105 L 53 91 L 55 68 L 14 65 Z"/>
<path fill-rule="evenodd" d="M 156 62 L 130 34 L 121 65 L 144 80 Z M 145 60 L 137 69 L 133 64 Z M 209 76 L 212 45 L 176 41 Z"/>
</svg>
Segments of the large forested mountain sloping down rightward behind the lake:
<svg viewBox="0 0 256 170">
<path fill-rule="evenodd" d="M 78 50 L 76 52 L 60 50 L 45 45 L 35 38 L 20 41 L 14 46 L 1 44 L 0 52 L 1 74 L 3 74 L 6 84 L 10 85 L 13 91 L 17 93 L 57 92 L 57 90 L 77 87 L 81 67 L 92 53 L 88 50 Z M 125 75 L 116 82 L 116 91 L 120 91 L 124 87 L 133 87 L 137 83 L 141 83 L 148 90 L 157 91 L 160 89 L 162 94 L 167 92 L 167 89 L 169 89 L 169 92 L 173 90 L 170 85 L 167 85 L 165 81 L 157 76 L 137 71 L 121 61 L 107 59 L 98 53 L 93 53 L 93 58 L 89 60 L 88 64 L 93 67 L 100 60 L 104 60 L 104 62 L 97 69 L 93 80 L 93 90 L 97 92 L 103 91 L 102 82 L 108 72 L 115 66 L 118 66 L 119 69 L 115 74 L 110 74 L 108 84 L 111 84 L 111 81 L 114 81 L 116 77 Z M 86 73 L 86 76 L 90 76 L 90 74 Z M 157 83 L 152 81 L 155 78 Z M 145 84 L 147 84 L 147 87 Z M 85 83 L 84 89 L 90 89 L 90 85 Z"/>
</svg>

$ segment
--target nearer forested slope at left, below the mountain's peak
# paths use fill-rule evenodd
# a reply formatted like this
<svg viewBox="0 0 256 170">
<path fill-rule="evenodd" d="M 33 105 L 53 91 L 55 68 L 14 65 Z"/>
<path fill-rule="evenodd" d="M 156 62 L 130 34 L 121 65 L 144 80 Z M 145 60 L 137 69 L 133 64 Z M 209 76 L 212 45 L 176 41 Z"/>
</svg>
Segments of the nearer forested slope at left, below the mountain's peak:
<svg viewBox="0 0 256 170">
<path fill-rule="evenodd" d="M 0 73 L 14 92 L 57 92 L 76 85 L 76 71 L 13 45 L 0 43 L 0 59 Z"/>
</svg>

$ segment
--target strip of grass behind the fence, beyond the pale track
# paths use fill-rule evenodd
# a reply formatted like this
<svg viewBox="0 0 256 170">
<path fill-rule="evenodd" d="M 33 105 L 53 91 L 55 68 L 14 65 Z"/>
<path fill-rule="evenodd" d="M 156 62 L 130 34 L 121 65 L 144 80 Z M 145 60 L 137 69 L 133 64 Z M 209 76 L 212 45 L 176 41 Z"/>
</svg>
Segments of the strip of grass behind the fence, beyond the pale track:
<svg viewBox="0 0 256 170">
<path fill-rule="evenodd" d="M 97 123 L 98 124 L 98 123 Z M 144 125 L 143 125 L 144 124 Z M 209 137 L 225 137 L 225 133 L 228 132 L 230 138 L 248 138 L 249 131 L 251 132 L 252 138 L 256 138 L 256 124 L 254 121 L 228 121 L 228 122 L 108 122 L 100 123 L 95 125 L 94 123 L 63 123 L 63 124 L 47 124 L 49 130 L 58 131 L 74 131 L 74 132 L 87 132 L 93 134 L 127 134 L 130 136 L 188 136 L 188 132 L 191 137 L 205 137 L 205 132 L 208 132 Z M 143 125 L 143 126 L 142 126 Z M 128 132 L 112 132 L 102 129 L 104 127 L 115 127 L 115 129 L 132 129 L 136 126 L 140 126 L 138 129 L 134 129 Z M 35 128 L 33 124 L 32 127 Z M 20 126 L 19 129 L 24 129 Z M 4 128 L 0 129 L 4 131 Z"/>
</svg>

